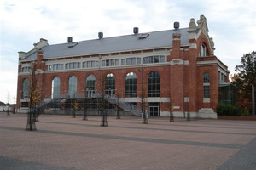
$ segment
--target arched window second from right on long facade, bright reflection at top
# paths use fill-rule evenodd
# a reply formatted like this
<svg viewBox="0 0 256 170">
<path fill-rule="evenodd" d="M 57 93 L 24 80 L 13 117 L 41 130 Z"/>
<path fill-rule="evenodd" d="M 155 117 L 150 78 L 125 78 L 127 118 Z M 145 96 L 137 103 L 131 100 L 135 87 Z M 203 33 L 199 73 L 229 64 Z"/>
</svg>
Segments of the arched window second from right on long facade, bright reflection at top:
<svg viewBox="0 0 256 170">
<path fill-rule="evenodd" d="M 129 72 L 125 78 L 125 97 L 137 97 L 137 76 L 134 72 Z"/>
</svg>

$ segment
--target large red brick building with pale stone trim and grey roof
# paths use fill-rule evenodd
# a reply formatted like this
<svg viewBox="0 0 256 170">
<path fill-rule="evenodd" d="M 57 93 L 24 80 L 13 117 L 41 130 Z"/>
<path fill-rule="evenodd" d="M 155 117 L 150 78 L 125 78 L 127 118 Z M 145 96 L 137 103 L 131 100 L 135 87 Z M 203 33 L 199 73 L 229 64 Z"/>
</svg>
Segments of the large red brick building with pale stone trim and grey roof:
<svg viewBox="0 0 256 170">
<path fill-rule="evenodd" d="M 216 118 L 218 87 L 230 71 L 214 55 L 207 19 L 191 19 L 187 28 L 103 37 L 49 45 L 41 38 L 34 48 L 19 52 L 17 109 L 27 111 L 32 65 L 42 101 L 115 96 L 142 106 L 150 116 Z M 115 94 L 115 95 L 113 95 Z"/>
</svg>

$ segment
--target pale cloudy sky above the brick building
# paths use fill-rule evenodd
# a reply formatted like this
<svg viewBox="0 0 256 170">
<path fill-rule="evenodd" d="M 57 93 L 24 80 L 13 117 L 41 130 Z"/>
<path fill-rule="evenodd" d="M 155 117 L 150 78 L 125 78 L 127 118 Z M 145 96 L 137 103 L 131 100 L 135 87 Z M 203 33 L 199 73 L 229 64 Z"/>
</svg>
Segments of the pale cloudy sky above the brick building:
<svg viewBox="0 0 256 170">
<path fill-rule="evenodd" d="M 189 20 L 207 18 L 215 55 L 236 73 L 243 54 L 256 50 L 255 0 L 1 0 L 0 101 L 15 103 L 18 52 L 28 52 L 40 38 L 49 44 L 139 32 L 188 27 Z"/>
</svg>

